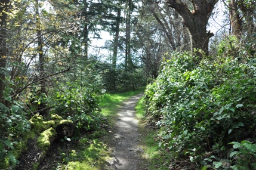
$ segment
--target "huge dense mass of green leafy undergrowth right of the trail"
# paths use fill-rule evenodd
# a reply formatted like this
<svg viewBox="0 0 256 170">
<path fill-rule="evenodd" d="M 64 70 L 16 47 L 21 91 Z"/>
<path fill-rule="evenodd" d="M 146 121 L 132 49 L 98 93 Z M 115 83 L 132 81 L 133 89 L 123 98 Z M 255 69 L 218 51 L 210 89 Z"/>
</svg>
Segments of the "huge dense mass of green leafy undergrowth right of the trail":
<svg viewBox="0 0 256 170">
<path fill-rule="evenodd" d="M 234 40 L 234 39 L 233 39 Z M 256 58 L 237 41 L 197 61 L 171 54 L 147 86 L 159 145 L 192 169 L 256 169 Z"/>
</svg>

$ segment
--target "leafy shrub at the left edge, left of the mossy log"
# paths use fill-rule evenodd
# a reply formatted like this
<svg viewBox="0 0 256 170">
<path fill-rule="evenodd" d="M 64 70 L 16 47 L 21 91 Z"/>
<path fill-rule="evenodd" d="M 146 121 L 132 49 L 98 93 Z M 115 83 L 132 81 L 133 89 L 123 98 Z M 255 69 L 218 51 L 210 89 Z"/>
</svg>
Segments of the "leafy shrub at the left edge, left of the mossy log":
<svg viewBox="0 0 256 170">
<path fill-rule="evenodd" d="M 4 103 L 0 103 L 0 166 L 8 168 L 18 163 L 17 144 L 22 141 L 24 134 L 30 131 L 24 103 L 12 100 L 12 82 L 5 81 Z M 8 85 L 7 85 L 8 84 Z"/>
</svg>

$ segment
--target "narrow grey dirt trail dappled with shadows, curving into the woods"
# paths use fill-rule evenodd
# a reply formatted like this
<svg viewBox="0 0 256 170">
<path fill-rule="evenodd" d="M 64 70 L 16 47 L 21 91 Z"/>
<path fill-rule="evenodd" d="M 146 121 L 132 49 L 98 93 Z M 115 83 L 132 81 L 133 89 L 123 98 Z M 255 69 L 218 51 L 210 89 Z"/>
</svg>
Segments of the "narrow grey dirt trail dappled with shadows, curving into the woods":
<svg viewBox="0 0 256 170">
<path fill-rule="evenodd" d="M 141 134 L 138 132 L 138 120 L 135 119 L 135 105 L 142 96 L 143 94 L 139 94 L 131 97 L 118 112 L 118 120 L 113 129 L 110 129 L 112 137 L 109 139 L 109 146 L 112 148 L 112 159 L 104 169 L 147 169 L 147 160 L 141 157 Z"/>
</svg>

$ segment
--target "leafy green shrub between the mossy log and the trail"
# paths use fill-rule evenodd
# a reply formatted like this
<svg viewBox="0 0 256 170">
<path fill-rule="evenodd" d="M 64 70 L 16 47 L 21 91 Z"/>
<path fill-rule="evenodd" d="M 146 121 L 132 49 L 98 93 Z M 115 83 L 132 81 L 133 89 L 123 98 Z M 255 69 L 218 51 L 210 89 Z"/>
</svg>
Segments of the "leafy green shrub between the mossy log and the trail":
<svg viewBox="0 0 256 170">
<path fill-rule="evenodd" d="M 66 89 L 55 92 L 53 103 L 57 106 L 52 113 L 71 119 L 81 131 L 100 128 L 100 107 L 95 89 L 69 82 Z"/>
</svg>

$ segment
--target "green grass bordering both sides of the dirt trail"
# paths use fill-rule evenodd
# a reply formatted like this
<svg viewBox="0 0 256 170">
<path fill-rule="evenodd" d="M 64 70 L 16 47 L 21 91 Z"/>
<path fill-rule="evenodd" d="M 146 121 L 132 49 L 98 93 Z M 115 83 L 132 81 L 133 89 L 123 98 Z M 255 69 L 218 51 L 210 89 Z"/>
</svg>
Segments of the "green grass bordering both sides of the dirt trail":
<svg viewBox="0 0 256 170">
<path fill-rule="evenodd" d="M 102 114 L 109 119 L 110 126 L 108 129 L 95 131 L 93 134 L 84 135 L 81 138 L 74 138 L 72 141 L 63 141 L 56 144 L 47 153 L 44 163 L 39 169 L 54 170 L 103 170 L 115 169 L 111 167 L 113 162 L 113 146 L 110 146 L 108 140 L 112 140 L 114 131 L 111 129 L 116 125 L 118 120 L 118 111 L 123 106 L 124 101 L 128 101 L 134 95 L 143 93 L 144 89 L 138 91 L 125 92 L 122 94 L 105 94 L 100 98 Z M 138 123 L 138 139 L 140 143 L 134 147 L 135 150 L 129 151 L 140 154 L 141 157 L 149 160 L 147 169 L 164 169 L 166 163 L 165 156 L 159 150 L 158 143 L 154 140 L 155 130 L 144 128 L 140 122 L 144 119 L 143 100 L 140 100 L 136 106 Z M 111 131 L 111 132 L 109 132 Z M 139 149 L 139 150 L 136 150 Z M 142 149 L 142 150 L 141 150 Z M 136 153 L 136 151 L 138 151 Z M 124 164 L 124 163 L 123 163 Z M 129 163 L 131 164 L 131 163 Z M 118 162 L 116 162 L 118 165 Z M 166 165 L 166 164 L 165 164 Z M 118 166 L 116 166 L 118 168 Z M 140 168 L 138 170 L 141 170 Z"/>
</svg>

